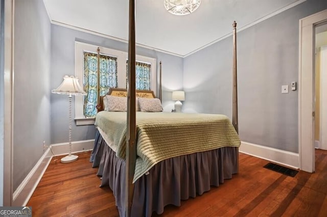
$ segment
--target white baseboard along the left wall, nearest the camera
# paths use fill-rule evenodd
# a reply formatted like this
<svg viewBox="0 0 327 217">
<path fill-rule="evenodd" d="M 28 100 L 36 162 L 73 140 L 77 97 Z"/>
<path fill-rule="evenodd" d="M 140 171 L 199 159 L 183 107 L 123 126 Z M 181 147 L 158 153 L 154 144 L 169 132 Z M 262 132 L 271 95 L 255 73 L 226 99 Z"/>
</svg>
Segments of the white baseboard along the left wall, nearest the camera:
<svg viewBox="0 0 327 217">
<path fill-rule="evenodd" d="M 26 206 L 46 168 L 48 168 L 51 158 L 52 154 L 48 148 L 13 193 L 13 206 Z"/>
</svg>

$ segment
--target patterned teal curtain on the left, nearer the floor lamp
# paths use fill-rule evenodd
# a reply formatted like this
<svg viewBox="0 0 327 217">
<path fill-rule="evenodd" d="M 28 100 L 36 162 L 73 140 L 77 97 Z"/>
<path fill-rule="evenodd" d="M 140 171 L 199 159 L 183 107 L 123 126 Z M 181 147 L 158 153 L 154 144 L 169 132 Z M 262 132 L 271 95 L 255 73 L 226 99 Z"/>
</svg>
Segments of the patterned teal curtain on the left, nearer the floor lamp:
<svg viewBox="0 0 327 217">
<path fill-rule="evenodd" d="M 84 52 L 84 116 L 93 118 L 97 115 L 98 96 L 98 61 L 100 61 L 100 96 L 106 95 L 109 88 L 117 87 L 117 58 Z"/>
</svg>

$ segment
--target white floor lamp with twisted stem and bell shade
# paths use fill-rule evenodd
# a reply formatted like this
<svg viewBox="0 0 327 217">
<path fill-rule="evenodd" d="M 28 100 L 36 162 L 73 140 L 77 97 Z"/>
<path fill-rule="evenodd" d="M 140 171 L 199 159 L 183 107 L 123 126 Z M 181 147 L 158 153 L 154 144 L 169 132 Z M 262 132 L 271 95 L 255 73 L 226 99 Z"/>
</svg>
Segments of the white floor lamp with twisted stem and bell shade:
<svg viewBox="0 0 327 217">
<path fill-rule="evenodd" d="M 78 156 L 72 154 L 72 95 L 86 95 L 78 83 L 78 78 L 74 76 L 65 75 L 63 82 L 57 88 L 52 90 L 52 93 L 68 95 L 69 100 L 69 154 L 60 159 L 62 163 L 73 162 L 77 160 Z"/>
</svg>

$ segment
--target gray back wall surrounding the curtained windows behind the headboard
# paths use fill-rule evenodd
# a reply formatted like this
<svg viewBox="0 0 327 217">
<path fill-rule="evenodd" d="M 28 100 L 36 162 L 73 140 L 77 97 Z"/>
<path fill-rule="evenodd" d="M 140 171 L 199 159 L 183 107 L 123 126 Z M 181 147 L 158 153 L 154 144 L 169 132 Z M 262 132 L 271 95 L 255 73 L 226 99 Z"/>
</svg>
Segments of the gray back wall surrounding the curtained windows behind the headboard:
<svg viewBox="0 0 327 217">
<path fill-rule="evenodd" d="M 127 26 L 126 26 L 127 28 Z M 63 26 L 51 25 L 51 88 L 57 88 L 64 75 L 75 74 L 75 41 L 108 47 L 111 49 L 128 50 L 127 44 L 108 38 L 72 30 Z M 158 39 L 159 40 L 159 39 Z M 183 59 L 166 53 L 142 47 L 136 48 L 136 54 L 162 61 L 162 104 L 166 111 L 171 111 L 171 91 L 182 89 Z M 49 90 L 50 90 L 49 89 Z M 73 117 L 75 117 L 75 98 L 73 98 Z M 95 126 L 76 126 L 73 123 L 73 141 L 95 138 Z M 68 141 L 68 100 L 67 97 L 51 94 L 51 144 Z"/>
</svg>

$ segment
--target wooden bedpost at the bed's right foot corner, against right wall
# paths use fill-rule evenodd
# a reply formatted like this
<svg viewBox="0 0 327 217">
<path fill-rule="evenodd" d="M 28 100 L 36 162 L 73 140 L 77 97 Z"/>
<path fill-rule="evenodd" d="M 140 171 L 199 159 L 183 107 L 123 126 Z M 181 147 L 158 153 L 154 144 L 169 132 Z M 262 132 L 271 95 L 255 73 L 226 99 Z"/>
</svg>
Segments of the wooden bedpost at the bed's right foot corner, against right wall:
<svg viewBox="0 0 327 217">
<path fill-rule="evenodd" d="M 236 57 L 236 22 L 233 22 L 233 90 L 232 90 L 232 124 L 239 134 L 238 104 L 237 104 L 237 57 Z"/>
</svg>

